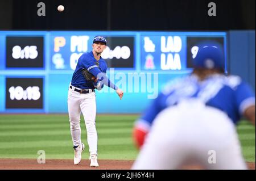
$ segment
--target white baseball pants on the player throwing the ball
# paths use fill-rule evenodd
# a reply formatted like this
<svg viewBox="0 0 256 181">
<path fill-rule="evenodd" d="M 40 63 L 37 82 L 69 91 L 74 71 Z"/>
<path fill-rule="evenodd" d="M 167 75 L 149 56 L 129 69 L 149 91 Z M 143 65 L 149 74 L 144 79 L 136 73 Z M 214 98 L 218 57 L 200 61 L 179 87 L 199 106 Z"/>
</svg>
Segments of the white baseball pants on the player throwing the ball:
<svg viewBox="0 0 256 181">
<path fill-rule="evenodd" d="M 84 116 L 90 154 L 97 154 L 96 94 L 80 94 L 69 88 L 68 115 L 73 145 L 81 144 L 80 115 Z"/>
</svg>

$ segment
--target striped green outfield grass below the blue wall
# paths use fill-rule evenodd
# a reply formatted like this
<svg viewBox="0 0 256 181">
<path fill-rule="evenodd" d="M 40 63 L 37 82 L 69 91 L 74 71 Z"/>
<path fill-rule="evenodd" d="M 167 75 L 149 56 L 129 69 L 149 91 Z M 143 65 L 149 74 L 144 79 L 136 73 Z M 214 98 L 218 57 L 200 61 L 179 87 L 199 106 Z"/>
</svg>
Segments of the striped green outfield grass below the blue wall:
<svg viewBox="0 0 256 181">
<path fill-rule="evenodd" d="M 135 159 L 138 151 L 131 131 L 136 115 L 99 115 L 99 159 Z M 89 158 L 86 129 L 81 117 L 83 158 Z M 242 151 L 246 161 L 255 162 L 255 128 L 241 121 L 238 125 Z M 46 158 L 73 159 L 68 115 L 0 115 L 0 158 L 38 158 L 38 150 Z"/>
</svg>

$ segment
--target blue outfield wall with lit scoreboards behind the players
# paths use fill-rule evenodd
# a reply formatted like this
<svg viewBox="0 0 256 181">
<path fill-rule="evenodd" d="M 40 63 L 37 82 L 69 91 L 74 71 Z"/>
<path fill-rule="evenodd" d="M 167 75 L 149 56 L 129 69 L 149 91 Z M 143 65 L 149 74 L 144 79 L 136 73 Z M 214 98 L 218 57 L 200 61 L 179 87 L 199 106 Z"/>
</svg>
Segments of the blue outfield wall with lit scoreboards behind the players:
<svg viewBox="0 0 256 181">
<path fill-rule="evenodd" d="M 79 56 L 92 50 L 95 35 L 107 37 L 108 48 L 102 53 L 109 65 L 107 74 L 125 92 L 119 100 L 108 87 L 97 91 L 98 113 L 143 111 L 169 80 L 192 71 L 195 46 L 206 39 L 224 46 L 225 70 L 254 81 L 255 89 L 255 78 L 251 78 L 255 66 L 250 66 L 255 65 L 255 31 L 0 31 L 0 112 L 67 113 L 73 71 Z M 248 36 L 253 35 L 251 48 L 253 40 Z M 236 46 L 240 42 L 242 48 Z"/>
</svg>

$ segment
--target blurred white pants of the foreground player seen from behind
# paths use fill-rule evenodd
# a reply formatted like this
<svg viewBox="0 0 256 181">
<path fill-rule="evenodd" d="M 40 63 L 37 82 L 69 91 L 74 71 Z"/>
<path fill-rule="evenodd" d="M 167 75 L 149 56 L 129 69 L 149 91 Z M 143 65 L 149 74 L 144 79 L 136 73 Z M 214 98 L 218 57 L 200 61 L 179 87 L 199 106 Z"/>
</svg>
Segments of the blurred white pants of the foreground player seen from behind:
<svg viewBox="0 0 256 181">
<path fill-rule="evenodd" d="M 159 113 L 131 169 L 246 169 L 236 127 L 222 111 L 181 103 Z"/>
</svg>

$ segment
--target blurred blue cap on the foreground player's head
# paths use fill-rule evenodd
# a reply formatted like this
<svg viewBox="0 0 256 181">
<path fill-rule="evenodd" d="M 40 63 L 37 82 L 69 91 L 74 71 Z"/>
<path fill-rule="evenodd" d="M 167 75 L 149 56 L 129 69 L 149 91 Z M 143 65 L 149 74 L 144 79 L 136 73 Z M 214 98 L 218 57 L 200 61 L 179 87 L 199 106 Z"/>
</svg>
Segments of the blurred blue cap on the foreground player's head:
<svg viewBox="0 0 256 181">
<path fill-rule="evenodd" d="M 215 41 L 204 41 L 193 60 L 194 68 L 224 69 L 224 49 Z"/>
</svg>

